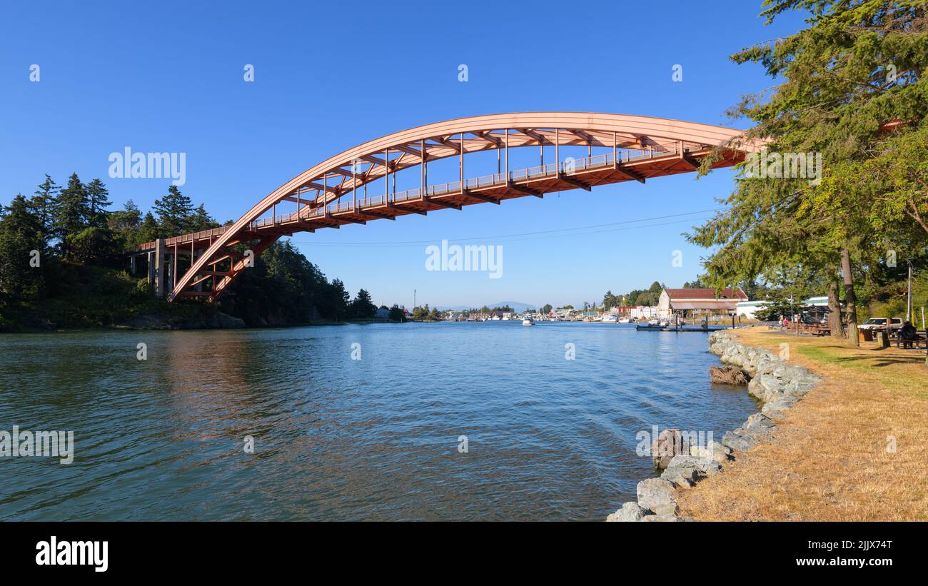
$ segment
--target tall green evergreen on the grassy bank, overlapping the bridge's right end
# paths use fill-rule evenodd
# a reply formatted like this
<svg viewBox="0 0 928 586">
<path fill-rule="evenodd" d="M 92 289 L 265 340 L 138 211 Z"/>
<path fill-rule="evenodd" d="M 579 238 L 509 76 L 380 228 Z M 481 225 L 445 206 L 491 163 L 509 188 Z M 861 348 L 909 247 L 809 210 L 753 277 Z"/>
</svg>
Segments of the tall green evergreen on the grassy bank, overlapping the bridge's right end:
<svg viewBox="0 0 928 586">
<path fill-rule="evenodd" d="M 705 267 L 716 288 L 758 276 L 777 284 L 771 269 L 782 266 L 818 270 L 831 284 L 840 278 L 847 339 L 857 345 L 856 273 L 879 262 L 887 248 L 917 246 L 912 228 L 928 213 L 928 168 L 918 138 L 928 115 L 928 13 L 914 0 L 767 0 L 764 6 L 768 22 L 799 10 L 811 15 L 810 26 L 732 57 L 759 63 L 782 80 L 772 91 L 745 97 L 732 114 L 754 121 L 744 140 L 767 139 L 771 153 L 820 154 L 820 181 L 745 173 L 726 201 L 730 210 L 690 239 L 714 248 Z M 906 144 L 911 147 L 896 148 Z M 837 289 L 828 287 L 832 308 Z"/>
</svg>

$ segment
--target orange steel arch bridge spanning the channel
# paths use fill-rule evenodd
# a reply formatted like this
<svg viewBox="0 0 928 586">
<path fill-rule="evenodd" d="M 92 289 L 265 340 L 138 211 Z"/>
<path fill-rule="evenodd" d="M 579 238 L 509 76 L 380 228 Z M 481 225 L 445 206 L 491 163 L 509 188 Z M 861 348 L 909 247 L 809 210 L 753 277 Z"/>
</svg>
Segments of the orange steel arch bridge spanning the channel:
<svg viewBox="0 0 928 586">
<path fill-rule="evenodd" d="M 713 168 L 728 167 L 754 151 L 743 132 L 709 124 L 589 112 L 525 112 L 475 116 L 426 124 L 349 148 L 300 173 L 258 201 L 238 222 L 148 242 L 132 254 L 148 255 L 148 278 L 168 300 L 213 301 L 281 236 L 339 228 L 346 223 L 395 220 L 410 213 L 512 197 L 544 197 L 568 189 L 693 172 L 719 146 Z M 539 164 L 510 169 L 509 151 L 539 147 Z M 545 162 L 545 152 L 554 160 Z M 586 147 L 586 157 L 564 152 Z M 595 151 L 594 151 L 595 149 Z M 465 155 L 496 152 L 496 173 L 467 178 Z M 548 155 L 550 156 L 550 155 Z M 429 183 L 429 163 L 458 159 L 458 177 Z M 419 177 L 407 170 L 416 168 Z M 414 180 L 396 191 L 400 172 Z M 382 185 L 380 184 L 382 181 Z M 372 182 L 378 185 L 368 185 Z M 375 189 L 375 187 L 377 189 Z M 375 194 L 374 191 L 377 191 Z M 178 271 L 180 268 L 180 271 Z"/>
</svg>

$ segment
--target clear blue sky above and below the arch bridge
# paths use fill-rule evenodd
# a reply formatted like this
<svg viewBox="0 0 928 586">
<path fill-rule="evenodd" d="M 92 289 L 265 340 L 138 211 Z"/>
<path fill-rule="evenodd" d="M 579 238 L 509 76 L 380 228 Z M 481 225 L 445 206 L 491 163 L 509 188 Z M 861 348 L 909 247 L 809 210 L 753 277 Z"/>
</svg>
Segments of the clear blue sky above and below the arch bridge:
<svg viewBox="0 0 928 586">
<path fill-rule="evenodd" d="M 344 148 L 432 121 L 576 110 L 744 128 L 725 110 L 772 81 L 728 56 L 802 26 L 796 17 L 764 26 L 759 5 L 5 3 L 0 201 L 32 194 L 45 172 L 58 184 L 77 172 L 84 181 L 103 179 L 114 208 L 132 198 L 148 210 L 169 180 L 110 179 L 110 153 L 128 146 L 187 153 L 182 191 L 224 222 Z M 32 64 L 41 68 L 39 83 L 29 80 Z M 245 64 L 254 65 L 254 83 L 242 79 Z M 459 64 L 469 68 L 467 83 L 458 82 Z M 682 83 L 671 79 L 675 64 L 683 66 Z M 293 241 L 329 277 L 353 294 L 367 288 L 378 303 L 411 306 L 416 288 L 419 303 L 432 305 L 577 305 L 601 300 L 607 289 L 693 279 L 705 251 L 680 233 L 707 214 L 650 228 L 615 223 L 714 209 L 731 179 L 722 170 L 698 181 L 686 174 L 607 185 Z M 501 237 L 531 232 L 548 234 Z M 426 243 L 465 237 L 503 246 L 501 278 L 425 270 Z"/>
</svg>

